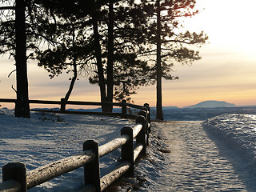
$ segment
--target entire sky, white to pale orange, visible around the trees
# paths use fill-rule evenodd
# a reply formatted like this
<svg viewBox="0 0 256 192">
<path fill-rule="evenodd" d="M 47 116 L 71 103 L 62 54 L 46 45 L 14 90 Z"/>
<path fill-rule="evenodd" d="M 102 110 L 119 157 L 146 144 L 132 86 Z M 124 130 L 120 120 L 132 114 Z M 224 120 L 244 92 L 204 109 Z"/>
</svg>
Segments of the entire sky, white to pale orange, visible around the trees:
<svg viewBox="0 0 256 192">
<path fill-rule="evenodd" d="M 197 0 L 199 14 L 186 18 L 184 30 L 209 36 L 201 48 L 202 59 L 192 66 L 177 64 L 172 74 L 175 81 L 162 81 L 163 106 L 190 106 L 206 100 L 231 102 L 238 106 L 256 105 L 256 26 L 254 26 L 254 0 Z M 0 58 L 0 98 L 15 98 L 14 61 Z M 28 63 L 30 99 L 60 100 L 66 94 L 70 74 L 58 78 L 48 77 L 37 63 Z M 155 86 L 141 87 L 132 96 L 134 103 L 148 102 L 155 106 Z M 74 86 L 70 100 L 99 102 L 99 89 L 80 78 Z M 2 106 L 10 106 L 0 103 Z M 45 107 L 45 106 L 43 106 Z M 78 108 L 80 108 L 79 106 Z"/>
</svg>

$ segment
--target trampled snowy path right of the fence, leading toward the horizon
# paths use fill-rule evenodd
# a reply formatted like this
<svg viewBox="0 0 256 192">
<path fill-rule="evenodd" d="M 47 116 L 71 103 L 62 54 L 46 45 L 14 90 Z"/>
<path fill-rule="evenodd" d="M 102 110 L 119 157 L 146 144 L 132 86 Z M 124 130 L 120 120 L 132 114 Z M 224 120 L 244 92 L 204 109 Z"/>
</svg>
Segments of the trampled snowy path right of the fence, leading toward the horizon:
<svg viewBox="0 0 256 192">
<path fill-rule="evenodd" d="M 201 123 L 154 123 L 170 153 L 157 162 L 165 167 L 155 170 L 154 186 L 142 191 L 256 191 L 255 174 L 238 151 L 208 135 Z"/>
</svg>

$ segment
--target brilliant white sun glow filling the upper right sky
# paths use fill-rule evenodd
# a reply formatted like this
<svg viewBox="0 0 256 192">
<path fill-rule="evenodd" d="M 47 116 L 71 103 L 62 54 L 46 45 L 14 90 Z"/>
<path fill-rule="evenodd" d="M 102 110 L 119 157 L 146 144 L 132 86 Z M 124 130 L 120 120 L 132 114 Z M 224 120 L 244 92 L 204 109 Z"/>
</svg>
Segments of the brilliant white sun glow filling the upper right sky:
<svg viewBox="0 0 256 192">
<path fill-rule="evenodd" d="M 238 49 L 255 54 L 255 6 L 252 0 L 197 1 L 199 14 L 187 18 L 184 26 L 189 30 L 205 31 L 210 43 L 239 46 Z"/>
</svg>

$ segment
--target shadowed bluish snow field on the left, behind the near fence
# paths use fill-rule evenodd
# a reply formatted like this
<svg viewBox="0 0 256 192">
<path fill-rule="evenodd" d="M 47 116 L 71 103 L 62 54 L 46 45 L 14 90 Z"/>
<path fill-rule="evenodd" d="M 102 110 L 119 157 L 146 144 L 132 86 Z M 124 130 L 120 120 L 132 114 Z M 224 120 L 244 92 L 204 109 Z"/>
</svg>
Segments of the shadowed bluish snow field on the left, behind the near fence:
<svg viewBox="0 0 256 192">
<path fill-rule="evenodd" d="M 82 151 L 82 143 L 95 139 L 99 145 L 120 136 L 127 119 L 103 116 L 31 113 L 30 119 L 15 118 L 13 110 L 0 109 L 0 166 L 23 162 L 27 170 Z M 134 123 L 134 122 L 132 122 Z M 118 159 L 102 157 L 102 174 Z M 118 157 L 118 151 L 114 156 Z M 110 160 L 109 160 L 110 159 Z M 2 180 L 2 169 L 0 170 Z M 77 191 L 83 186 L 83 169 L 50 180 L 30 191 Z"/>
</svg>

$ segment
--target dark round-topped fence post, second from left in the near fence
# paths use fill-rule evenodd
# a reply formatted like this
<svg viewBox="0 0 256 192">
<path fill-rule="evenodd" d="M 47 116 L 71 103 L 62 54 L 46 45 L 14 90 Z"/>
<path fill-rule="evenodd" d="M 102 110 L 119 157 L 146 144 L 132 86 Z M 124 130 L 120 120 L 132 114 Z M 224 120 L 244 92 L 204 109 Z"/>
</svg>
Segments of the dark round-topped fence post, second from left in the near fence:
<svg viewBox="0 0 256 192">
<path fill-rule="evenodd" d="M 96 158 L 94 161 L 87 163 L 84 166 L 85 185 L 93 185 L 96 188 L 96 192 L 101 191 L 100 184 L 100 171 L 99 171 L 99 158 L 98 158 L 98 142 L 94 140 L 88 140 L 83 143 L 83 150 L 94 150 Z"/>
</svg>

